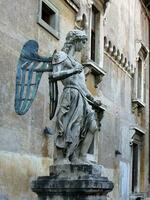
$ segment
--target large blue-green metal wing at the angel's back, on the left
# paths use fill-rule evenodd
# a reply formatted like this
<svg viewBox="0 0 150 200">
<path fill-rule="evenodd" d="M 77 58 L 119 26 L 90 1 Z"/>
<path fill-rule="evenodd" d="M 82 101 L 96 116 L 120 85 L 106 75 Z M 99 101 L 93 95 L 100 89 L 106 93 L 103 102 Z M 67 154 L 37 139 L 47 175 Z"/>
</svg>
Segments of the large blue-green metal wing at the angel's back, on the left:
<svg viewBox="0 0 150 200">
<path fill-rule="evenodd" d="M 15 111 L 24 115 L 35 99 L 42 73 L 46 70 L 48 58 L 37 54 L 38 43 L 34 40 L 26 42 L 22 48 L 17 66 Z M 41 70 L 43 69 L 43 70 Z"/>
</svg>

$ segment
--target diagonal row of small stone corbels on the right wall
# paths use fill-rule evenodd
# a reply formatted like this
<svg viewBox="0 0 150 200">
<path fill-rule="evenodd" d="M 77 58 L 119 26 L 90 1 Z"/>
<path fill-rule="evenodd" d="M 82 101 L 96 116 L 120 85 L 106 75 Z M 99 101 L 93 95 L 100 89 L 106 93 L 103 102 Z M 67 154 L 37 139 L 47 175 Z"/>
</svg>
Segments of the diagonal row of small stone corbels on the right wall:
<svg viewBox="0 0 150 200">
<path fill-rule="evenodd" d="M 130 75 L 134 74 L 134 67 L 130 61 L 112 44 L 110 40 L 104 37 L 104 49 L 107 54 L 115 61 L 117 64 Z"/>
</svg>

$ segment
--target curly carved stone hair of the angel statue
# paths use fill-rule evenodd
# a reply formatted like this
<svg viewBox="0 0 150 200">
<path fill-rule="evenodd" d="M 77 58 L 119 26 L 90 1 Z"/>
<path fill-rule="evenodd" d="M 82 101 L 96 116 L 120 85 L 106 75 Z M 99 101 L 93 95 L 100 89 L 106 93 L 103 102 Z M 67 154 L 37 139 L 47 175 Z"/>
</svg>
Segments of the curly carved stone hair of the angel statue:
<svg viewBox="0 0 150 200">
<path fill-rule="evenodd" d="M 77 41 L 81 40 L 87 40 L 87 35 L 85 31 L 78 29 L 70 31 L 66 36 L 66 42 L 62 50 L 68 52 Z"/>
</svg>

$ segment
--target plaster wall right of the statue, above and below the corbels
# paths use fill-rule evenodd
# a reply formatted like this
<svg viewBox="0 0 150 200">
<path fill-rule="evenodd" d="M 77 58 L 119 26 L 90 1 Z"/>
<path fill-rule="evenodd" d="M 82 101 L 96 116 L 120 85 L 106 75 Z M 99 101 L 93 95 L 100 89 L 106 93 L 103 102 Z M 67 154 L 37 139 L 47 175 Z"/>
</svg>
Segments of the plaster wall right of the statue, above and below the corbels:
<svg viewBox="0 0 150 200">
<path fill-rule="evenodd" d="M 149 22 L 140 1 L 117 1 L 110 4 L 104 25 L 104 35 L 116 49 L 136 68 L 138 44 L 149 48 Z M 131 193 L 132 126 L 141 125 L 145 130 L 142 150 L 140 191 L 148 192 L 148 138 L 149 138 L 149 58 L 145 64 L 146 101 L 143 117 L 132 112 L 133 77 L 114 62 L 113 55 L 105 52 L 104 70 L 107 72 L 98 92 L 107 109 L 100 133 L 99 162 L 114 181 L 110 199 L 129 199 Z M 115 155 L 118 150 L 121 155 Z M 105 153 L 104 153 L 105 152 Z M 116 196 L 118 194 L 118 196 Z M 114 198 L 115 197 L 115 198 Z"/>
</svg>

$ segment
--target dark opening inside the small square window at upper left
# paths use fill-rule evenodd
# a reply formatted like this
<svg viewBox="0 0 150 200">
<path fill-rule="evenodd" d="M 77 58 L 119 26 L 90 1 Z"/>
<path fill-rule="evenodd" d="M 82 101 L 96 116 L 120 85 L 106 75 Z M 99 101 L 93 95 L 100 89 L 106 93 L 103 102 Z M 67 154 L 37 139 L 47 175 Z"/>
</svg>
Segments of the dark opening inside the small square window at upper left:
<svg viewBox="0 0 150 200">
<path fill-rule="evenodd" d="M 55 12 L 42 2 L 42 20 L 55 29 Z"/>
</svg>

